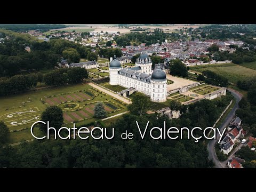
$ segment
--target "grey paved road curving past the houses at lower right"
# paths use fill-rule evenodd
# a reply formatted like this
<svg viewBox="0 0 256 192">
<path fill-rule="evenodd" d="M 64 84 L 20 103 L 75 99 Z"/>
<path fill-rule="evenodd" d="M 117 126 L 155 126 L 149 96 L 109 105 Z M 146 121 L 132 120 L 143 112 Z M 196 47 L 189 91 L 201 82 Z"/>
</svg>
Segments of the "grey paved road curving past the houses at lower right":
<svg viewBox="0 0 256 192">
<path fill-rule="evenodd" d="M 230 121 L 232 120 L 232 118 L 235 116 L 235 111 L 238 108 L 238 102 L 242 99 L 243 95 L 233 89 L 228 89 L 231 94 L 235 97 L 235 105 L 233 107 L 233 109 L 230 111 L 230 113 L 227 115 L 227 117 L 222 121 L 222 124 L 220 125 L 219 129 L 220 132 L 223 131 L 224 127 L 227 127 L 228 124 L 230 123 Z M 220 135 L 217 134 L 217 140 L 219 139 Z M 219 159 L 217 158 L 217 155 L 215 153 L 215 143 L 217 142 L 217 140 L 211 140 L 208 145 L 207 145 L 207 149 L 209 151 L 209 159 L 212 159 L 213 162 L 215 163 L 215 167 L 216 168 L 224 168 L 226 167 L 225 162 L 220 162 Z"/>
</svg>

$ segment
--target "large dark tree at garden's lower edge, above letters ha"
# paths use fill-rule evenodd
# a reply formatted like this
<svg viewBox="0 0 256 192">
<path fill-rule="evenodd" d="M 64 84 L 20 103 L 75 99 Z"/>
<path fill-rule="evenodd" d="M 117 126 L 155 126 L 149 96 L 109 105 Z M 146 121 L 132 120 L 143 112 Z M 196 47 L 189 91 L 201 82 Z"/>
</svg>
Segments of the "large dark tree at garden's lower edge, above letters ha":
<svg viewBox="0 0 256 192">
<path fill-rule="evenodd" d="M 60 129 L 61 125 L 63 124 L 63 112 L 61 108 L 57 106 L 47 107 L 45 111 L 42 113 L 41 121 L 49 121 L 51 127 L 54 127 L 57 130 Z M 39 124 L 39 128 L 41 131 L 47 131 L 47 124 L 41 123 Z"/>
</svg>

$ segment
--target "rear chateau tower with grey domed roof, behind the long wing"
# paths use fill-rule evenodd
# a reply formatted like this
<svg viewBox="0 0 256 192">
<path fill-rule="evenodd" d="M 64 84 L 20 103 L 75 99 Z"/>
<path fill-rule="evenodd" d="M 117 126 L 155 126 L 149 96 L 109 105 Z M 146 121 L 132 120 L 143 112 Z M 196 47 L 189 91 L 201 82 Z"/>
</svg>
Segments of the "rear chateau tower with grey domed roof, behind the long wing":
<svg viewBox="0 0 256 192">
<path fill-rule="evenodd" d="M 147 53 L 141 53 L 140 57 L 135 62 L 135 67 L 140 67 L 141 73 L 151 74 L 152 61 Z"/>
</svg>

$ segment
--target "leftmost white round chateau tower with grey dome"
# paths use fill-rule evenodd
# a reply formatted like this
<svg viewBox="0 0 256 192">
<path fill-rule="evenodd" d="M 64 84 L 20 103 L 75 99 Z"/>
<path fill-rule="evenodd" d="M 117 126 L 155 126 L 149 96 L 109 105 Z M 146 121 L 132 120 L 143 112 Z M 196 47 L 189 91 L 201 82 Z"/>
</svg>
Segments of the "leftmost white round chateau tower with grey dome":
<svg viewBox="0 0 256 192">
<path fill-rule="evenodd" d="M 121 63 L 116 59 L 116 55 L 114 59 L 109 63 L 109 84 L 110 85 L 118 85 L 118 71 L 121 70 Z"/>
</svg>

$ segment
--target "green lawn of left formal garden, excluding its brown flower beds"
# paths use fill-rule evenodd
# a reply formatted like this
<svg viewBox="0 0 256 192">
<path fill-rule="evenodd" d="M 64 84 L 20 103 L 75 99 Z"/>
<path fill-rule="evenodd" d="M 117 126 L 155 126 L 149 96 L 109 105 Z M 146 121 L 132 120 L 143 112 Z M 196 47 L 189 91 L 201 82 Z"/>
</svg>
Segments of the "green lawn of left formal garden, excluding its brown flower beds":
<svg viewBox="0 0 256 192">
<path fill-rule="evenodd" d="M 74 93 L 74 92 L 79 90 L 86 90 L 86 89 L 90 89 L 94 91 L 93 87 L 87 84 L 77 84 L 77 85 L 70 84 L 70 85 L 63 85 L 59 87 L 50 87 L 47 89 L 41 89 L 36 91 L 28 91 L 23 94 L 9 95 L 8 97 L 1 97 L 0 98 L 0 121 L 5 122 L 6 125 L 9 127 L 9 130 L 11 131 L 9 142 L 15 143 L 15 142 L 20 142 L 22 140 L 33 139 L 30 133 L 30 126 L 31 124 L 33 124 L 33 122 L 39 121 L 39 119 L 41 119 L 41 114 L 46 109 L 46 105 L 40 101 L 41 98 L 44 101 L 46 101 L 47 99 L 48 102 L 49 100 L 50 102 L 53 102 L 55 101 L 55 97 L 61 97 L 61 96 L 66 97 L 65 95 L 61 95 L 62 93 L 77 94 L 80 92 L 77 92 L 77 93 Z M 108 109 L 109 113 L 107 114 L 107 117 L 113 116 L 119 113 L 123 113 L 124 111 L 127 110 L 127 107 L 123 105 L 122 102 L 119 103 L 119 101 L 113 100 L 113 97 L 110 97 L 110 95 L 102 94 L 99 91 L 94 91 L 94 92 L 97 93 L 97 96 L 95 98 L 93 98 L 92 100 L 83 101 L 79 103 L 79 105 L 82 106 L 82 104 L 86 104 L 89 102 L 109 100 L 110 101 L 109 103 L 111 103 L 114 106 L 117 106 L 118 108 L 121 108 L 121 110 L 115 111 L 113 108 L 108 107 L 108 108 L 111 108 L 111 110 Z M 55 97 L 50 97 L 53 95 L 55 95 Z M 44 98 L 44 97 L 50 97 L 50 98 Z M 30 98 L 31 100 L 29 100 L 28 98 Z M 22 107 L 22 102 L 24 103 L 23 107 Z M 124 108 L 122 108 L 120 105 L 122 105 Z M 85 106 L 91 109 L 93 107 L 93 105 L 85 105 Z M 105 103 L 105 106 L 106 106 L 106 103 Z M 78 111 L 75 111 L 75 113 L 79 115 Z M 70 114 L 72 115 L 72 113 Z M 97 121 L 96 118 L 91 118 L 91 117 L 92 116 L 90 116 L 89 119 L 85 119 L 83 121 L 76 123 L 76 126 L 82 126 L 82 125 L 86 125 L 88 123 Z M 71 124 L 66 124 L 65 126 L 70 127 Z M 41 134 L 39 130 L 35 130 L 35 133 L 36 135 Z"/>
</svg>

